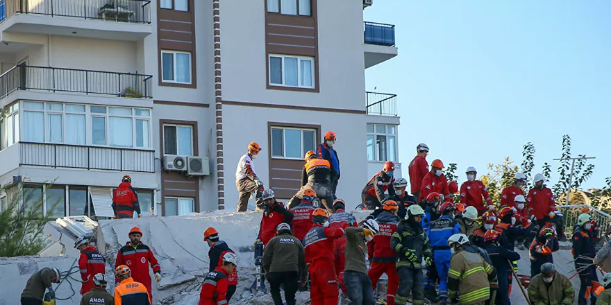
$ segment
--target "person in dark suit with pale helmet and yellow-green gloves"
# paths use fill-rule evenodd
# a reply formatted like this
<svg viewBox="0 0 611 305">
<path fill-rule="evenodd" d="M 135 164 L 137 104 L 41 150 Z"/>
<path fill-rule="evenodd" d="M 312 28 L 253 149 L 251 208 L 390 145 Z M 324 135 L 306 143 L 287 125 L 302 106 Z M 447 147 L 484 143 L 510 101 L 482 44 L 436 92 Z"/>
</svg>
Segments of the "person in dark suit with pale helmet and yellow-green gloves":
<svg viewBox="0 0 611 305">
<path fill-rule="evenodd" d="M 396 269 L 399 274 L 399 290 L 395 304 L 405 305 L 412 295 L 412 304 L 424 304 L 424 275 L 422 259 L 425 264 L 433 263 L 430 241 L 422 229 L 424 210 L 419 205 L 408 207 L 408 215 L 397 225 L 390 238 L 390 247 L 396 252 Z"/>
</svg>

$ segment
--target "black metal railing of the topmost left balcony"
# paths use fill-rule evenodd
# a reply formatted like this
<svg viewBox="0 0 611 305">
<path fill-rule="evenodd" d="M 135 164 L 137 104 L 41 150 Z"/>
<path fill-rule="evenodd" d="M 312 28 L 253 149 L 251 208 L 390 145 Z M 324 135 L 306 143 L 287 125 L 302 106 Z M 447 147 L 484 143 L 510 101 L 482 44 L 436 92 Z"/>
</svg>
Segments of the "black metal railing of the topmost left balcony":
<svg viewBox="0 0 611 305">
<path fill-rule="evenodd" d="M 6 18 L 15 13 L 151 23 L 149 0 L 3 0 Z"/>
</svg>

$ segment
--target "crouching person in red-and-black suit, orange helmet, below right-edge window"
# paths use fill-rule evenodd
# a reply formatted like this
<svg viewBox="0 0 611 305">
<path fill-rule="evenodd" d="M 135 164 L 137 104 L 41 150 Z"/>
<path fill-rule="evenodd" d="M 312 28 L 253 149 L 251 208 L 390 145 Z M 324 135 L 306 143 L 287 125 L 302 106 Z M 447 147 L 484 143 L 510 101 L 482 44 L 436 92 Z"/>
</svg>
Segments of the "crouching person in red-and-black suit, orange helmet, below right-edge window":
<svg viewBox="0 0 611 305">
<path fill-rule="evenodd" d="M 377 209 L 388 199 L 394 197 L 394 188 L 390 187 L 394 182 L 394 163 L 384 163 L 382 171 L 376 173 L 361 192 L 362 209 Z M 388 191 L 388 195 L 385 192 Z"/>
</svg>

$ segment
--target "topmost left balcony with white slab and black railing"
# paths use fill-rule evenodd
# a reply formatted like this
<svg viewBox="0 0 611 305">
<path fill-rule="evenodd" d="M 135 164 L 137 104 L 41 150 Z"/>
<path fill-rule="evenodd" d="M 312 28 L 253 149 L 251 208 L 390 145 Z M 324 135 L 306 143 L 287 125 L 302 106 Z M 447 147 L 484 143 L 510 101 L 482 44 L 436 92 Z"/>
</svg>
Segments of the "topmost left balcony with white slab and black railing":
<svg viewBox="0 0 611 305">
<path fill-rule="evenodd" d="M 141 40 L 153 31 L 149 0 L 0 0 L 2 4 L 2 32 Z"/>
</svg>

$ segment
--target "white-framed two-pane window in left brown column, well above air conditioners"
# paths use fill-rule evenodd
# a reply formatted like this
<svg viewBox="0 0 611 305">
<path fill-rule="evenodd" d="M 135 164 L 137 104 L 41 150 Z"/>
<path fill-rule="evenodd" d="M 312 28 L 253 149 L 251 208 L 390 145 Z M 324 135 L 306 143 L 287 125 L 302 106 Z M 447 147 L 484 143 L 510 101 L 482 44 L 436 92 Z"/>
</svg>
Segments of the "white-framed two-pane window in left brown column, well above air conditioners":
<svg viewBox="0 0 611 305">
<path fill-rule="evenodd" d="M 191 83 L 191 53 L 178 51 L 161 52 L 162 82 Z"/>
</svg>

